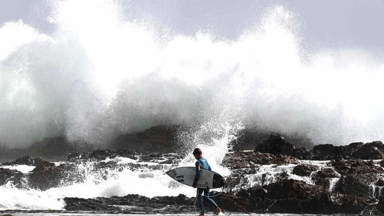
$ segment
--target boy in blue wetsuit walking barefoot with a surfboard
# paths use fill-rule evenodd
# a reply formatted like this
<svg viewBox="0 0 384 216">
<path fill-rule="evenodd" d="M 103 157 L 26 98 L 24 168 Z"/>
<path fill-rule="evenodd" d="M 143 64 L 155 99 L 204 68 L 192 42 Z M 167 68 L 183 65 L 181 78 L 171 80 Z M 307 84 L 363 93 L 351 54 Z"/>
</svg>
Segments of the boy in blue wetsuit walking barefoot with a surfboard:
<svg viewBox="0 0 384 216">
<path fill-rule="evenodd" d="M 208 164 L 208 161 L 205 160 L 201 156 L 202 154 L 203 153 L 202 153 L 201 149 L 199 149 L 199 148 L 195 148 L 195 150 L 193 151 L 193 155 L 195 156 L 195 158 L 197 160 L 196 163 L 195 163 L 195 165 L 196 165 L 195 180 L 193 181 L 193 184 L 192 184 L 192 186 L 194 188 L 197 187 L 196 183 L 197 183 L 197 181 L 199 180 L 199 177 L 200 177 L 200 168 L 212 170 L 211 167 Z M 204 214 L 203 202 L 202 202 L 202 199 L 201 199 L 201 196 L 202 196 L 203 193 L 204 193 L 204 200 L 208 201 L 210 204 L 212 204 L 212 206 L 214 206 L 216 208 L 216 214 L 220 214 L 221 209 L 217 206 L 215 201 L 213 201 L 211 198 L 209 198 L 209 188 L 197 188 L 197 203 L 199 204 L 199 209 L 200 209 L 199 216 L 205 215 Z"/>
</svg>

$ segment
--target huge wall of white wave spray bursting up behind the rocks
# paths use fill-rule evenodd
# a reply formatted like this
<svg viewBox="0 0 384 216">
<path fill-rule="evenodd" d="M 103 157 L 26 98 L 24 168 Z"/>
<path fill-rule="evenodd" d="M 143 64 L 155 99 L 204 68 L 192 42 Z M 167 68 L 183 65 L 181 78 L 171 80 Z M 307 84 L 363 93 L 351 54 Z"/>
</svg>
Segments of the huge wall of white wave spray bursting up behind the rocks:
<svg viewBox="0 0 384 216">
<path fill-rule="evenodd" d="M 51 6 L 49 35 L 22 21 L 0 28 L 2 145 L 61 134 L 101 145 L 156 125 L 201 128 L 217 116 L 316 144 L 383 140 L 382 62 L 303 51 L 301 22 L 283 7 L 227 41 L 160 35 L 151 23 L 124 21 L 115 2 Z"/>
</svg>

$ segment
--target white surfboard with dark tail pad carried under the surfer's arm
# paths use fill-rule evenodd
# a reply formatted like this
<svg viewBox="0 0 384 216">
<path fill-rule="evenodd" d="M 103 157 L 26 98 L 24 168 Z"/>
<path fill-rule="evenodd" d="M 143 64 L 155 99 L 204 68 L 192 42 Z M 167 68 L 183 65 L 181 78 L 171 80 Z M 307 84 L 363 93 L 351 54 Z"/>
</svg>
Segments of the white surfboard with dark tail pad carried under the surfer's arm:
<svg viewBox="0 0 384 216">
<path fill-rule="evenodd" d="M 171 169 L 166 174 L 176 181 L 192 186 L 195 179 L 196 168 L 192 166 Z M 197 188 L 221 188 L 225 185 L 225 179 L 218 173 L 200 168 L 200 177 L 196 183 Z"/>
</svg>

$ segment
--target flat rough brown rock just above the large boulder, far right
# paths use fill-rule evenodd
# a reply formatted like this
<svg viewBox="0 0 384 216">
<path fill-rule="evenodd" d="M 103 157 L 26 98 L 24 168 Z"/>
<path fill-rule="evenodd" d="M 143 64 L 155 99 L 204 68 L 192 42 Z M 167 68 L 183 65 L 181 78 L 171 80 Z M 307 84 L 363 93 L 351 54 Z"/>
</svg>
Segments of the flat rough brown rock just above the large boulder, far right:
<svg viewBox="0 0 384 216">
<path fill-rule="evenodd" d="M 363 161 L 361 159 L 336 159 L 330 161 L 328 164 L 334 166 L 342 175 L 384 173 L 384 169 L 376 166 L 373 161 Z"/>
</svg>

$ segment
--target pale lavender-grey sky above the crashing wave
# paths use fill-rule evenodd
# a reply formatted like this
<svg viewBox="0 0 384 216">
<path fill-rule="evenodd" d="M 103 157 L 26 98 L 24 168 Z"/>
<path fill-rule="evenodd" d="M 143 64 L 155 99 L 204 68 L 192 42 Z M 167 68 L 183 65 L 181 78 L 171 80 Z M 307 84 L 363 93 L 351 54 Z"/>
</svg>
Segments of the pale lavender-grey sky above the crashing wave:
<svg viewBox="0 0 384 216">
<path fill-rule="evenodd" d="M 0 1 L 0 25 L 23 20 L 40 32 L 53 32 L 46 21 L 47 1 Z M 283 5 L 302 22 L 308 47 L 357 47 L 384 50 L 383 0 L 132 0 L 122 1 L 127 19 L 147 19 L 173 31 L 194 35 L 199 30 L 214 30 L 218 37 L 236 38 L 255 23 L 265 9 Z"/>
</svg>

